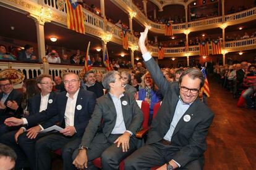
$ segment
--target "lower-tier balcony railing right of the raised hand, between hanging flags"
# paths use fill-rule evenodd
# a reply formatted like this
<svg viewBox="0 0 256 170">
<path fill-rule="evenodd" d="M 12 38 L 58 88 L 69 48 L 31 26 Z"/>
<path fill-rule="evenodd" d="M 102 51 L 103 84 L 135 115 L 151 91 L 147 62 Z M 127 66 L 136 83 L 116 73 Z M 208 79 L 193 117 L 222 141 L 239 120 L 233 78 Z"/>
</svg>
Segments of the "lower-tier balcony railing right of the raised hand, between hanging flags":
<svg viewBox="0 0 256 170">
<path fill-rule="evenodd" d="M 256 37 L 247 38 L 247 39 L 239 39 L 236 41 L 226 41 L 225 43 L 226 50 L 228 52 L 241 51 L 241 50 L 250 50 L 256 48 Z M 242 48 L 242 49 L 241 49 Z M 150 46 L 150 51 L 153 56 L 158 56 L 158 47 Z M 209 51 L 211 53 L 211 44 L 209 43 Z M 199 55 L 199 46 L 189 46 L 190 55 Z M 181 57 L 186 56 L 186 48 L 185 47 L 169 47 L 164 48 L 164 54 L 169 56 Z"/>
</svg>

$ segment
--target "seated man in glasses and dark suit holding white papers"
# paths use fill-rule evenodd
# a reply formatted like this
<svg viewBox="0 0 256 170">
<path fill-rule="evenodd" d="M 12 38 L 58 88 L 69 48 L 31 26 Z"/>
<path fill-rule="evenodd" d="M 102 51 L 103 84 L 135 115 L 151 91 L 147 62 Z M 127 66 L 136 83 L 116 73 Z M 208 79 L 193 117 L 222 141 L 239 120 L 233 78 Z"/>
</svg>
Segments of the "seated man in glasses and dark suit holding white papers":
<svg viewBox="0 0 256 170">
<path fill-rule="evenodd" d="M 41 124 L 43 129 L 58 122 L 63 128 L 36 141 L 33 152 L 36 155 L 36 169 L 39 170 L 51 169 L 51 151 L 58 148 L 62 148 L 64 169 L 72 168 L 71 152 L 80 144 L 82 134 L 94 110 L 96 95 L 80 89 L 79 76 L 75 73 L 66 73 L 63 82 L 67 92 L 58 94 L 52 107 L 28 118 L 9 118 L 5 121 L 8 126 L 20 124 L 33 126 L 45 121 Z"/>
</svg>

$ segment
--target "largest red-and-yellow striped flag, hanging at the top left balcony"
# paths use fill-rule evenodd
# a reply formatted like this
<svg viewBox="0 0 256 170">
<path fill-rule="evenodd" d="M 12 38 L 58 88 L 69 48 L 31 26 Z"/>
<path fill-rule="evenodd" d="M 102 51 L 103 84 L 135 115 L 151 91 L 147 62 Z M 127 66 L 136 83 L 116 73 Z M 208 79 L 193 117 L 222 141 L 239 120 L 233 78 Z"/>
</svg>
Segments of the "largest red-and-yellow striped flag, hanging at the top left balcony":
<svg viewBox="0 0 256 170">
<path fill-rule="evenodd" d="M 77 0 L 66 0 L 67 5 L 67 28 L 77 33 L 85 34 L 85 23 L 82 6 Z"/>
</svg>

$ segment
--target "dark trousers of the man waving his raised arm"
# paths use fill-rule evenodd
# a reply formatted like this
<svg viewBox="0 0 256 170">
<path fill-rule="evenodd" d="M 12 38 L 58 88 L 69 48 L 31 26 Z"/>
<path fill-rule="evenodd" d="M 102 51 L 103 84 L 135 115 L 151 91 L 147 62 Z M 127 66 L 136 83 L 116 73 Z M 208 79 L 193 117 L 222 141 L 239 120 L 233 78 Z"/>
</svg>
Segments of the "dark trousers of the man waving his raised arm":
<svg viewBox="0 0 256 170">
<path fill-rule="evenodd" d="M 173 155 L 177 152 L 177 148 L 171 145 L 164 145 L 160 142 L 150 145 L 144 145 L 136 150 L 132 155 L 126 158 L 124 169 L 150 169 L 155 166 L 162 166 L 168 161 L 172 160 Z M 191 161 L 186 166 L 178 169 L 203 169 L 203 157 Z"/>
</svg>

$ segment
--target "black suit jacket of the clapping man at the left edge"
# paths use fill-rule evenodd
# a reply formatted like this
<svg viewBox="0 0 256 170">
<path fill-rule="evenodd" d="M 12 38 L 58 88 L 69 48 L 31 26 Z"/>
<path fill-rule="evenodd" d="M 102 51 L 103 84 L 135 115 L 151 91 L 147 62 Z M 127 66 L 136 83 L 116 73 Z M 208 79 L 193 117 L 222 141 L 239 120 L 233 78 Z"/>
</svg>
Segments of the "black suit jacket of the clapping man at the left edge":
<svg viewBox="0 0 256 170">
<path fill-rule="evenodd" d="M 0 93 L 0 100 L 2 99 L 2 95 L 3 93 Z M 13 89 L 11 91 L 11 93 L 8 95 L 6 102 L 4 102 L 4 105 L 6 105 L 5 109 L 0 109 L 0 116 L 19 116 L 19 113 L 16 110 L 12 110 L 11 108 L 7 107 L 7 102 L 9 100 L 15 100 L 15 102 L 17 102 L 18 105 L 20 105 L 20 102 L 22 100 L 22 93 L 20 93 L 19 91 Z M 7 117 L 6 117 L 7 118 Z"/>
</svg>

